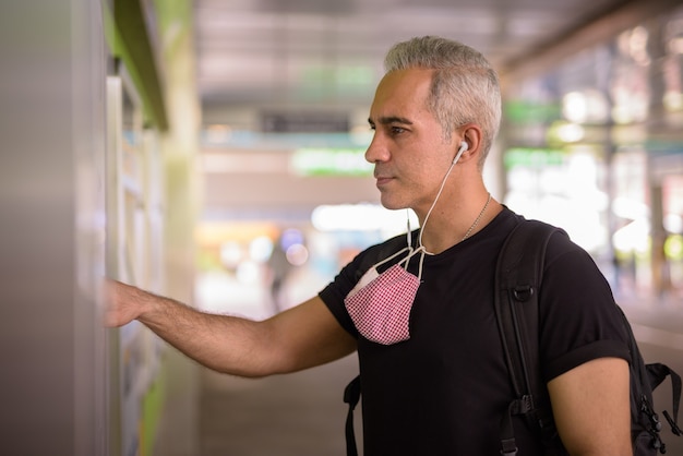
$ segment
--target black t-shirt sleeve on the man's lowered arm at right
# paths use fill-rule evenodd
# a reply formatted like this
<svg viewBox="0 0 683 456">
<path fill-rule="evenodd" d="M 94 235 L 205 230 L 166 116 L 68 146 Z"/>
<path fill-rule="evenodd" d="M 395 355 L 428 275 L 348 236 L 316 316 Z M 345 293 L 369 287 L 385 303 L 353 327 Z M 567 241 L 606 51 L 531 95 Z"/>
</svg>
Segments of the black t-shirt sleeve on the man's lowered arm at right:
<svg viewBox="0 0 683 456">
<path fill-rule="evenodd" d="M 565 236 L 548 245 L 540 287 L 540 357 L 543 379 L 587 361 L 631 360 L 627 333 L 604 276 L 590 255 Z"/>
</svg>

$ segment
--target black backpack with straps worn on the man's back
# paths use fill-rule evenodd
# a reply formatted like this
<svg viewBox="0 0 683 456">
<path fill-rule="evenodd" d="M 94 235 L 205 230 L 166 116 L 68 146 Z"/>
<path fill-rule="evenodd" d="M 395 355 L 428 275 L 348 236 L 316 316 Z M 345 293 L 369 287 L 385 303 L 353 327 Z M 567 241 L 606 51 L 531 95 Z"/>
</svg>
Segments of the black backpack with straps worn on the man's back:
<svg viewBox="0 0 683 456">
<path fill-rule="evenodd" d="M 546 247 L 553 233 L 566 233 L 538 220 L 523 220 L 505 240 L 499 254 L 495 272 L 495 314 L 505 350 L 511 381 L 516 397 L 501 418 L 501 455 L 515 456 L 517 445 L 513 430 L 513 416 L 523 416 L 541 435 L 548 456 L 566 455 L 555 430 L 546 385 L 540 380 L 538 359 L 538 287 L 542 279 Z M 631 431 L 635 456 L 654 456 L 666 453 L 659 431 L 661 422 L 652 407 L 652 389 L 667 376 L 671 377 L 673 418 L 663 416 L 675 435 L 683 432 L 678 425 L 681 401 L 681 377 L 660 363 L 645 364 L 633 336 L 631 325 L 620 310 L 627 331 L 631 352 Z M 344 401 L 349 405 L 346 419 L 346 454 L 357 456 L 354 434 L 354 410 L 360 400 L 360 375 L 344 391 Z"/>
</svg>

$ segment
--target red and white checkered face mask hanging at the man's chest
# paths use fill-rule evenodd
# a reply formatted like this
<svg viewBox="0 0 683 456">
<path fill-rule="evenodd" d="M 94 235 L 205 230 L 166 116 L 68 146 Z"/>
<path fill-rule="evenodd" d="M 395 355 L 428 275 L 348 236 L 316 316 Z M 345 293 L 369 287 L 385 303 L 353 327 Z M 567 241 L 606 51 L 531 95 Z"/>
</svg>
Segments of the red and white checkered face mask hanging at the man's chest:
<svg viewBox="0 0 683 456">
<path fill-rule="evenodd" d="M 405 251 L 408 251 L 405 260 L 378 274 L 378 266 Z M 406 268 L 416 253 L 421 254 L 421 275 L 424 252 L 407 248 L 368 269 L 344 299 L 356 328 L 368 340 L 392 345 L 410 338 L 410 310 L 420 286 L 420 277 Z"/>
</svg>

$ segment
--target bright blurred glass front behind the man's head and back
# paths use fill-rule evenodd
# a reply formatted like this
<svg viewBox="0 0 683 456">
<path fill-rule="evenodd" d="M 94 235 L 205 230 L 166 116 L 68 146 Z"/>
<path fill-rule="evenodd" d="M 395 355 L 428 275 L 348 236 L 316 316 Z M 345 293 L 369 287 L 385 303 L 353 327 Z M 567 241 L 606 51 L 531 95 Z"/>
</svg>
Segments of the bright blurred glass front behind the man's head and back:
<svg viewBox="0 0 683 456">
<path fill-rule="evenodd" d="M 506 94 L 506 204 L 564 227 L 616 293 L 680 299 L 683 8 Z"/>
</svg>

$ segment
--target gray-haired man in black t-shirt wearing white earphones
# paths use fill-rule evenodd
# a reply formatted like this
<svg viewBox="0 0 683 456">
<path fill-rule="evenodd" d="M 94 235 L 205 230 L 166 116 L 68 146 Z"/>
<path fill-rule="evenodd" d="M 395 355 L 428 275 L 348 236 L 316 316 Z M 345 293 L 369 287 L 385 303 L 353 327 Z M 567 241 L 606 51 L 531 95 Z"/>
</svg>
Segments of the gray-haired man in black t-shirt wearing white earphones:
<svg viewBox="0 0 683 456">
<path fill-rule="evenodd" d="M 108 324 L 136 319 L 204 365 L 251 377 L 357 350 L 366 455 L 499 454 L 513 391 L 494 264 L 520 217 L 481 175 L 500 123 L 498 76 L 478 51 L 436 37 L 396 45 L 385 67 L 366 158 L 382 204 L 415 211 L 419 230 L 366 250 L 319 296 L 263 322 L 110 283 Z M 564 446 L 631 455 L 626 336 L 606 280 L 565 237 L 549 243 L 540 302 L 542 374 Z M 515 434 L 520 455 L 542 454 L 524 421 Z"/>
</svg>

